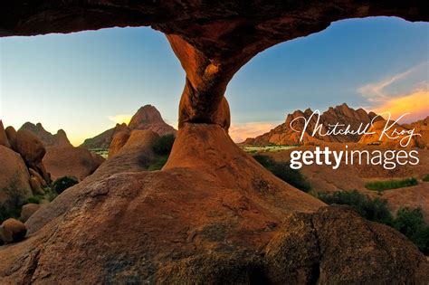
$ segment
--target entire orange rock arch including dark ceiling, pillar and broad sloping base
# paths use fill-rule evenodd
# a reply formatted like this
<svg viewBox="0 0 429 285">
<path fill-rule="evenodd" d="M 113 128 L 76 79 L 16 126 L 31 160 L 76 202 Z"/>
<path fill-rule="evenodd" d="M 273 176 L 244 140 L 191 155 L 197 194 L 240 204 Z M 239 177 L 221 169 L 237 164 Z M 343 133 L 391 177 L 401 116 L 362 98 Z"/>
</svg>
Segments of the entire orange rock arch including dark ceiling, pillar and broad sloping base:
<svg viewBox="0 0 429 285">
<path fill-rule="evenodd" d="M 236 147 L 224 97 L 234 73 L 274 44 L 347 18 L 428 21 L 425 5 L 2 2 L 0 36 L 151 25 L 167 34 L 186 83 L 163 170 L 144 171 L 122 147 L 33 214 L 23 242 L 0 248 L 0 283 L 427 283 L 428 261 L 403 235 L 326 207 Z"/>
</svg>

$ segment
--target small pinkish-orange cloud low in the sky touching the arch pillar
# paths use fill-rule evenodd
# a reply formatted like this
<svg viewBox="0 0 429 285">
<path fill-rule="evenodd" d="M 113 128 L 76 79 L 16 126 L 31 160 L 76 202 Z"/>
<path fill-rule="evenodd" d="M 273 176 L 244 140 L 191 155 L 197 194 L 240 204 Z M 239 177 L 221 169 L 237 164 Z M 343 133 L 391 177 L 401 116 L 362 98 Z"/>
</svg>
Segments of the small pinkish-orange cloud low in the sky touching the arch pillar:
<svg viewBox="0 0 429 285">
<path fill-rule="evenodd" d="M 246 138 L 254 138 L 275 128 L 279 123 L 274 122 L 249 122 L 233 124 L 229 128 L 229 135 L 234 142 L 243 142 Z"/>
</svg>

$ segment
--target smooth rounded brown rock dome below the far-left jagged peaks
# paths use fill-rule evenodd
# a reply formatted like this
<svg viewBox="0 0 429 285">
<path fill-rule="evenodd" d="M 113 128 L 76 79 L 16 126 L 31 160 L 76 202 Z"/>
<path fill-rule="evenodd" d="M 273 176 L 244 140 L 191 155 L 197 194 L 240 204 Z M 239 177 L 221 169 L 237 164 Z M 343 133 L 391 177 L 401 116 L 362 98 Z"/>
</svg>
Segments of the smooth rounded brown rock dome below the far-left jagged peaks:
<svg viewBox="0 0 429 285">
<path fill-rule="evenodd" d="M 82 180 L 90 176 L 100 166 L 100 156 L 92 155 L 83 147 L 47 147 L 43 165 L 51 174 L 52 180 L 62 176 L 73 176 Z"/>
</svg>

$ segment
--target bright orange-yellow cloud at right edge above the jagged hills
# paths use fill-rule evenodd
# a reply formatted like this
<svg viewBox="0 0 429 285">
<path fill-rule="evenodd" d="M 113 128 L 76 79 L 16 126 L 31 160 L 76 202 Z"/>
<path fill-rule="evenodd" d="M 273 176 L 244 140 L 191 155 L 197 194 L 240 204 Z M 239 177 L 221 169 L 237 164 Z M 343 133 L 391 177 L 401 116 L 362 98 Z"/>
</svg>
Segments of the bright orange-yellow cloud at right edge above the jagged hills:
<svg viewBox="0 0 429 285">
<path fill-rule="evenodd" d="M 424 119 L 429 115 L 429 90 L 415 90 L 410 94 L 393 98 L 383 102 L 373 111 L 377 114 L 390 112 L 392 119 L 411 113 L 404 118 L 407 122 Z"/>
</svg>

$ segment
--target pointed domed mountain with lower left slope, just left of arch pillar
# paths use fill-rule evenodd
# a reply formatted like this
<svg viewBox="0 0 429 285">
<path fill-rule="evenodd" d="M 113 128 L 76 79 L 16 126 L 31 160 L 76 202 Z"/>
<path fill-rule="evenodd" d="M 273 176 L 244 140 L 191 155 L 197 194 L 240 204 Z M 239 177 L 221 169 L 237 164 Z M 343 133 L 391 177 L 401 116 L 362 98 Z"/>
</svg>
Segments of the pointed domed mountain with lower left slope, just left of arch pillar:
<svg viewBox="0 0 429 285">
<path fill-rule="evenodd" d="M 100 135 L 94 138 L 87 138 L 81 145 L 88 149 L 91 148 L 110 148 L 112 156 L 123 146 L 124 140 L 127 137 L 127 134 L 133 129 L 150 129 L 155 131 L 158 135 L 163 136 L 167 134 L 176 134 L 176 129 L 168 125 L 164 119 L 162 119 L 159 111 L 152 105 L 145 105 L 138 109 L 136 114 L 129 121 L 129 125 L 123 123 L 121 125 L 117 124 L 115 128 L 110 128 Z M 110 144 L 117 135 L 119 137 L 110 147 Z"/>
</svg>

